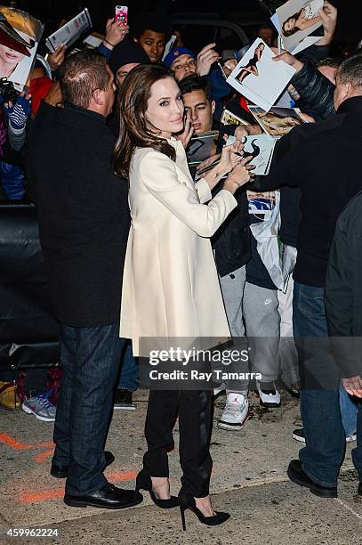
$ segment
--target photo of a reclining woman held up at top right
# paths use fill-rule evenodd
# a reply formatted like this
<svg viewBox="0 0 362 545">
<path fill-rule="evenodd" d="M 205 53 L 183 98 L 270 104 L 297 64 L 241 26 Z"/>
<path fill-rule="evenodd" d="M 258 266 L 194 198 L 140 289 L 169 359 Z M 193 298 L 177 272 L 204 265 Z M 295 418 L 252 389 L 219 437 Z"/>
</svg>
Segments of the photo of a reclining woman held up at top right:
<svg viewBox="0 0 362 545">
<path fill-rule="evenodd" d="M 323 0 L 288 0 L 277 9 L 284 47 L 292 52 L 295 46 L 322 25 L 320 11 Z"/>
</svg>

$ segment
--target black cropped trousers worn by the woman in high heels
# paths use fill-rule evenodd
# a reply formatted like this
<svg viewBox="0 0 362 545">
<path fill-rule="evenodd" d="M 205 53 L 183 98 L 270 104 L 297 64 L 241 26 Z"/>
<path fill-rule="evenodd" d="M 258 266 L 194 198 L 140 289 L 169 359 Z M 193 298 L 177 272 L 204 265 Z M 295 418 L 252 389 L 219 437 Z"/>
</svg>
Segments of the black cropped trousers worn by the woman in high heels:
<svg viewBox="0 0 362 545">
<path fill-rule="evenodd" d="M 149 450 L 143 467 L 150 476 L 168 476 L 167 451 L 173 448 L 173 425 L 179 414 L 181 492 L 195 498 L 209 493 L 213 460 L 210 456 L 212 392 L 151 390 L 145 435 Z"/>
</svg>

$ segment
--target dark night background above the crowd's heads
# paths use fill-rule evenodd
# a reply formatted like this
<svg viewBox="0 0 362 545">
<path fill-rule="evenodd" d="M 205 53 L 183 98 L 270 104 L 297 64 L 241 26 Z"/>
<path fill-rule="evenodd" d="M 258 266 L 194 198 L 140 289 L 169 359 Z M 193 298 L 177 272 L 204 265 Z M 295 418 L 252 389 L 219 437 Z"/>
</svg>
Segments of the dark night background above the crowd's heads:
<svg viewBox="0 0 362 545">
<path fill-rule="evenodd" d="M 331 0 L 331 3 L 339 9 L 339 22 L 336 40 L 350 45 L 350 49 L 362 38 L 362 2 L 358 0 Z M 168 6 L 168 11 L 173 12 L 214 12 L 221 18 L 228 19 L 232 12 L 232 20 L 248 22 L 255 25 L 269 19 L 268 12 L 261 7 L 258 0 L 229 0 L 213 2 L 210 0 L 18 0 L 17 2 L 3 2 L 3 4 L 16 4 L 17 7 L 36 15 L 45 23 L 44 37 L 58 28 L 61 19 L 69 19 L 87 7 L 93 19 L 93 29 L 103 33 L 105 21 L 114 14 L 116 4 L 129 6 L 129 21 L 142 11 Z M 263 4 L 275 8 L 284 4 L 283 0 L 263 0 Z M 274 12 L 274 10 L 273 10 Z M 253 38 L 253 36 L 251 36 Z"/>
</svg>

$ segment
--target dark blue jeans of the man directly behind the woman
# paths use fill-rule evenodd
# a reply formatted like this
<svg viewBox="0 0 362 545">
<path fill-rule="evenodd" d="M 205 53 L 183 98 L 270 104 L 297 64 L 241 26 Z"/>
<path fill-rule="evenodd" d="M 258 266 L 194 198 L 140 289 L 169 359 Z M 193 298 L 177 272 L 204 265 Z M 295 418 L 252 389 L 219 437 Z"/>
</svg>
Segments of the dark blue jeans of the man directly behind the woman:
<svg viewBox="0 0 362 545">
<path fill-rule="evenodd" d="M 107 483 L 104 444 L 124 339 L 119 324 L 60 325 L 62 378 L 54 427 L 53 463 L 68 466 L 66 492 L 83 495 Z"/>
</svg>

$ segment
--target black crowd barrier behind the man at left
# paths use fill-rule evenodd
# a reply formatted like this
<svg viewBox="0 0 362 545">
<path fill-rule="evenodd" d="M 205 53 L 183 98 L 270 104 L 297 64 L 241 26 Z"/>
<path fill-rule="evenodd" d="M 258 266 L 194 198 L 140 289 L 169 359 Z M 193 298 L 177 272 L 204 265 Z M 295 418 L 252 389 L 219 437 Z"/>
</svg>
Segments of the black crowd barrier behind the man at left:
<svg viewBox="0 0 362 545">
<path fill-rule="evenodd" d="M 59 362 L 36 209 L 0 203 L 0 372 Z"/>
</svg>

